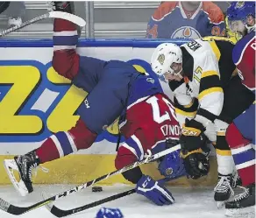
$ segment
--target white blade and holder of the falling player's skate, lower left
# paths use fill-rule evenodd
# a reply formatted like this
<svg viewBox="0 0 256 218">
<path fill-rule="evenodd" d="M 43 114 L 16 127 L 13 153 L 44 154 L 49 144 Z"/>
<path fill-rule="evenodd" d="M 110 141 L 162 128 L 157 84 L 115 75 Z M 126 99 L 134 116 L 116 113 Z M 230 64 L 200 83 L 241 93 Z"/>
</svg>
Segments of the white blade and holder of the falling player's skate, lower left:
<svg viewBox="0 0 256 218">
<path fill-rule="evenodd" d="M 19 181 L 15 178 L 14 171 L 18 171 L 18 165 L 14 159 L 4 159 L 4 169 L 7 172 L 12 185 L 18 191 L 18 193 L 25 197 L 28 194 L 28 190 L 22 179 Z"/>
</svg>

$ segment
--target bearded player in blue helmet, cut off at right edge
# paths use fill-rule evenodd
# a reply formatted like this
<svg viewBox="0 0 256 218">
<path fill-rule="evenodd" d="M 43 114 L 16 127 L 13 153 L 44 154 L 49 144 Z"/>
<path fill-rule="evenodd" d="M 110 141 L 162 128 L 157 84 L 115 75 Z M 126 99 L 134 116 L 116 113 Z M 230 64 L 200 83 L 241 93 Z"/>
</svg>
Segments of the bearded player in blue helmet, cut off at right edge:
<svg viewBox="0 0 256 218">
<path fill-rule="evenodd" d="M 255 2 L 231 3 L 227 16 L 231 31 L 243 36 L 233 50 L 233 61 L 243 84 L 255 95 Z M 226 203 L 226 214 L 245 217 L 255 211 L 255 102 L 231 123 L 226 139 L 245 186 L 244 193 Z"/>
</svg>

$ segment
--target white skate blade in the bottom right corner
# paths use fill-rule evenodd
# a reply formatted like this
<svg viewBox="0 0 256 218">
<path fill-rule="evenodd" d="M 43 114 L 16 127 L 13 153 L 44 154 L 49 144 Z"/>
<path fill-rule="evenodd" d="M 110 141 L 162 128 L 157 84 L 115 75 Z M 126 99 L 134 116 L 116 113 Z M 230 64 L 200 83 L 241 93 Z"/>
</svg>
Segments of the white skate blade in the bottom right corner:
<svg viewBox="0 0 256 218">
<path fill-rule="evenodd" d="M 243 207 L 238 209 L 226 209 L 225 216 L 234 218 L 254 218 L 255 206 Z"/>
</svg>

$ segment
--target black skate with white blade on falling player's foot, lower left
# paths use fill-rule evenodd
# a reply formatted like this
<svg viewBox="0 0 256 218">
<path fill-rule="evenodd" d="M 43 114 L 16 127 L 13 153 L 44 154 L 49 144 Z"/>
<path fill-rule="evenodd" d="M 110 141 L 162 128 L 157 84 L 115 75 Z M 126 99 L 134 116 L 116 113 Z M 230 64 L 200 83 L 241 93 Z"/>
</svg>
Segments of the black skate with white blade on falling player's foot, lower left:
<svg viewBox="0 0 256 218">
<path fill-rule="evenodd" d="M 32 169 L 37 166 L 39 166 L 39 158 L 35 151 L 4 160 L 4 167 L 11 183 L 22 196 L 32 193 Z M 18 171 L 19 181 L 15 178 L 14 171 Z"/>
</svg>

